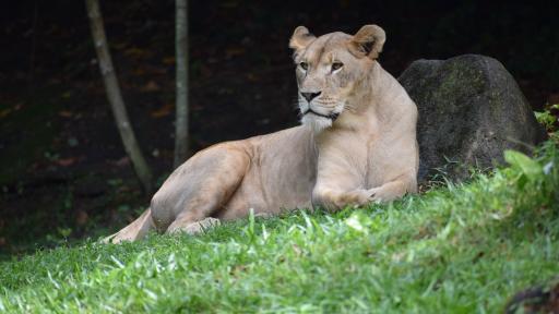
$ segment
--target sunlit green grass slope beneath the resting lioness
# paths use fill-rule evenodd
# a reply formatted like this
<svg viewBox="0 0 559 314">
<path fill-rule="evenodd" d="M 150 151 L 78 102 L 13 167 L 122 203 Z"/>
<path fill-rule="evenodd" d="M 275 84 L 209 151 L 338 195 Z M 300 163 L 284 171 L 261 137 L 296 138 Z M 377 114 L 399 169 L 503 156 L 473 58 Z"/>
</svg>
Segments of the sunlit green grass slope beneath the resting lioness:
<svg viewBox="0 0 559 314">
<path fill-rule="evenodd" d="M 498 313 L 559 274 L 559 149 L 471 183 L 0 264 L 0 312 Z"/>
</svg>

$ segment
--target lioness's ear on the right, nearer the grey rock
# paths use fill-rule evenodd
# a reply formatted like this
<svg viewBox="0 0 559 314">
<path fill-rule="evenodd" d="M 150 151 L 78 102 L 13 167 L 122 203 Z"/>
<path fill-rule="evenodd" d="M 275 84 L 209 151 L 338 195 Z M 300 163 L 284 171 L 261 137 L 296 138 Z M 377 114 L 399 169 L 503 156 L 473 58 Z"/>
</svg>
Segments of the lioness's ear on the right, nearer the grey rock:
<svg viewBox="0 0 559 314">
<path fill-rule="evenodd" d="M 386 41 L 384 29 L 377 25 L 365 25 L 349 41 L 349 51 L 358 58 L 367 56 L 374 60 L 379 58 L 384 41 Z"/>
</svg>

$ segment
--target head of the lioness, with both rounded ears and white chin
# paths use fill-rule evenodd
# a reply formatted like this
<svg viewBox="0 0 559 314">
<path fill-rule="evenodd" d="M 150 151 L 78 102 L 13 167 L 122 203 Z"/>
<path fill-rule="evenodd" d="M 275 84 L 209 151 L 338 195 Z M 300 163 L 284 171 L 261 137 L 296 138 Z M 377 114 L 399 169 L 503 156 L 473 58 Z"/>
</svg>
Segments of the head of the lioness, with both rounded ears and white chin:
<svg viewBox="0 0 559 314">
<path fill-rule="evenodd" d="M 385 41 L 377 25 L 365 25 L 355 35 L 331 33 L 314 37 L 305 26 L 295 29 L 294 49 L 301 123 L 316 132 L 332 126 L 345 110 L 359 82 L 374 63 Z"/>
</svg>

